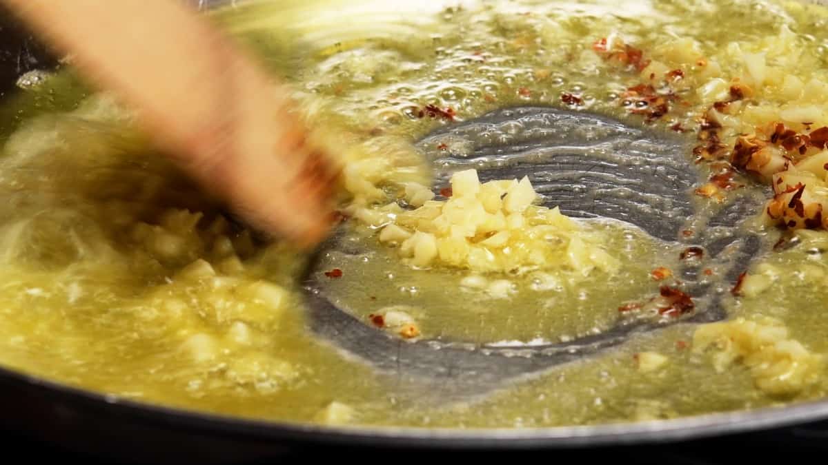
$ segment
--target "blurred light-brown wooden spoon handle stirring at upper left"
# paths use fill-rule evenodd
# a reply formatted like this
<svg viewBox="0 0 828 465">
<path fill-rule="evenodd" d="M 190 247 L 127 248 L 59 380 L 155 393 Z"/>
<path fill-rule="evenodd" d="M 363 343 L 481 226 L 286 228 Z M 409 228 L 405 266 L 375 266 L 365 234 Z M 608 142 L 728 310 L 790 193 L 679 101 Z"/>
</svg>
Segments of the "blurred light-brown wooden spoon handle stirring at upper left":
<svg viewBox="0 0 828 465">
<path fill-rule="evenodd" d="M 174 0 L 2 1 L 253 227 L 303 246 L 325 236 L 339 170 L 286 88 L 204 17 Z"/>
</svg>

